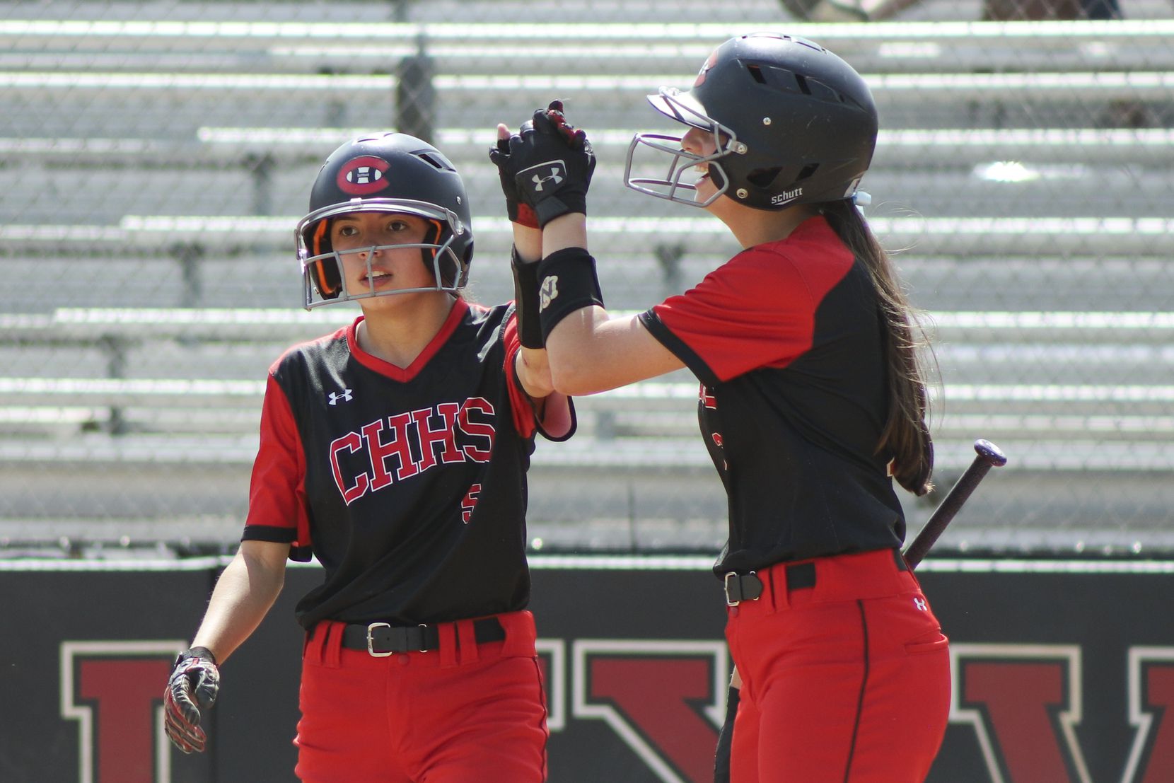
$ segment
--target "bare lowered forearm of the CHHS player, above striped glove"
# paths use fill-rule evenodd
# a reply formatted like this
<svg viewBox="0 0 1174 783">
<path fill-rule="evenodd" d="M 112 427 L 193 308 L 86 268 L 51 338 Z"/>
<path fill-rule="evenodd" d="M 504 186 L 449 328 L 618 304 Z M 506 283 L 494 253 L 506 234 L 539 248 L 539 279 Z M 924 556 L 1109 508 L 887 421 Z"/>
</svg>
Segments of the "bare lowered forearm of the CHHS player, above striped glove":
<svg viewBox="0 0 1174 783">
<path fill-rule="evenodd" d="M 238 552 L 216 580 L 193 647 L 207 647 L 223 663 L 257 629 L 284 582 L 284 563 Z"/>
</svg>

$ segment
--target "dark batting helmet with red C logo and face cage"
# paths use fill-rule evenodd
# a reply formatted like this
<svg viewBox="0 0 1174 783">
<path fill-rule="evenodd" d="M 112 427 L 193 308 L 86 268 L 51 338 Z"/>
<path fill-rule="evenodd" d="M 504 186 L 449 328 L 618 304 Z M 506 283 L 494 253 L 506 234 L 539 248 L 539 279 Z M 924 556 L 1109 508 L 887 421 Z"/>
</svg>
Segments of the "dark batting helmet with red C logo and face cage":
<svg viewBox="0 0 1174 783">
<path fill-rule="evenodd" d="M 331 222 L 355 212 L 414 215 L 425 220 L 429 230 L 419 243 L 336 251 L 330 242 Z M 315 180 L 310 212 L 298 221 L 295 236 L 306 310 L 397 293 L 457 293 L 468 282 L 473 235 L 465 185 L 439 150 L 406 134 L 359 139 L 335 150 Z M 367 254 L 370 278 L 373 251 L 412 248 L 420 250 L 434 285 L 392 290 L 348 285 L 344 256 Z"/>
</svg>

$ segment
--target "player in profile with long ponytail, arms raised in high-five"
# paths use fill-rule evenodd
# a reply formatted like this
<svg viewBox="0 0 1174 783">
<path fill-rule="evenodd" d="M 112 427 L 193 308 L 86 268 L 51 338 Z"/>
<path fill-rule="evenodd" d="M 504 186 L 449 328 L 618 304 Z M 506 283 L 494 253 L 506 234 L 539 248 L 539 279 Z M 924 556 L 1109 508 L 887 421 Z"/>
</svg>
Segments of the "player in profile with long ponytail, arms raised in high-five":
<svg viewBox="0 0 1174 783">
<path fill-rule="evenodd" d="M 589 144 L 558 112 L 510 135 L 499 168 L 547 216 L 534 279 L 554 387 L 681 367 L 701 382 L 729 497 L 714 571 L 741 682 L 717 779 L 922 781 L 946 727 L 949 642 L 899 548 L 892 480 L 927 492 L 933 450 L 916 323 L 856 207 L 872 96 L 824 47 L 770 33 L 726 41 L 691 89 L 649 101 L 684 133 L 637 134 L 626 183 L 706 209 L 742 250 L 683 295 L 609 318 L 586 250 Z"/>
</svg>

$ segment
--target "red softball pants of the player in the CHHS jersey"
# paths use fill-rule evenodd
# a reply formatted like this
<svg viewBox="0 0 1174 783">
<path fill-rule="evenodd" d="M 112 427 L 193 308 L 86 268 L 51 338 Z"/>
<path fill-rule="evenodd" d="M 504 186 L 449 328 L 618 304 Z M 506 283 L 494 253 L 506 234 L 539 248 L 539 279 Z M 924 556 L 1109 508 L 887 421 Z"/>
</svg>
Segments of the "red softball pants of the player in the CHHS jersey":
<svg viewBox="0 0 1174 783">
<path fill-rule="evenodd" d="M 440 623 L 440 649 L 372 657 L 319 622 L 302 659 L 295 772 L 306 783 L 541 783 L 546 700 L 529 612 Z"/>
</svg>

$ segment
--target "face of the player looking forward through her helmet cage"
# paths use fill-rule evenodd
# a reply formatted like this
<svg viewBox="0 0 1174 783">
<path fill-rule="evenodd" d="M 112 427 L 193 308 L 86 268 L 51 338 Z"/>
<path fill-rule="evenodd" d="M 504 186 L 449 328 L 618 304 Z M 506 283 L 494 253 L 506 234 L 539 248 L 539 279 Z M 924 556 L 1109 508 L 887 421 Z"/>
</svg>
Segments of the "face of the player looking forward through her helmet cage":
<svg viewBox="0 0 1174 783">
<path fill-rule="evenodd" d="M 421 262 L 419 248 L 380 247 L 420 243 L 426 231 L 427 222 L 418 215 L 351 212 L 336 217 L 330 227 L 330 242 L 343 259 L 346 290 L 375 292 L 434 286 L 436 279 Z"/>
</svg>

